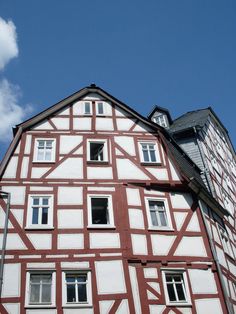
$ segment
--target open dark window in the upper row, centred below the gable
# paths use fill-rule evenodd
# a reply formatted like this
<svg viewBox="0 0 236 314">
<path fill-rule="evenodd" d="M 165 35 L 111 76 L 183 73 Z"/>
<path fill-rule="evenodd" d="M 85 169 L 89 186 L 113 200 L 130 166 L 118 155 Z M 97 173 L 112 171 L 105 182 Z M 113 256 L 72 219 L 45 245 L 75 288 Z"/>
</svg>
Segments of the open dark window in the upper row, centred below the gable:
<svg viewBox="0 0 236 314">
<path fill-rule="evenodd" d="M 107 141 L 106 140 L 88 140 L 87 145 L 88 161 L 107 162 Z"/>
</svg>

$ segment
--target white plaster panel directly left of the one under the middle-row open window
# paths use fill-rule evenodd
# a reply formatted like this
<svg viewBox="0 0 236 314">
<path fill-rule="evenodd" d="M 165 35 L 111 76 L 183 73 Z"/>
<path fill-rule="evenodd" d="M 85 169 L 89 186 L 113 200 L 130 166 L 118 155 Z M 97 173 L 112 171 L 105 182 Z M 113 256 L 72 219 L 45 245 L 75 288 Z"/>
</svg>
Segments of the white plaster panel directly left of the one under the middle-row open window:
<svg viewBox="0 0 236 314">
<path fill-rule="evenodd" d="M 83 249 L 84 235 L 78 233 L 59 234 L 58 249 Z"/>
</svg>

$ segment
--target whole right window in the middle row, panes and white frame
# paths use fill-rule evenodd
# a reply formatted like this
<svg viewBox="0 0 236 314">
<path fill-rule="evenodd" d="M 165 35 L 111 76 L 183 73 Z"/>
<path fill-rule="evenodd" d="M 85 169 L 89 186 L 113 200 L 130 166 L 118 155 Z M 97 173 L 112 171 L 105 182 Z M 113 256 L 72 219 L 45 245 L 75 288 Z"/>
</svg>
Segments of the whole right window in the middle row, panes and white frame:
<svg viewBox="0 0 236 314">
<path fill-rule="evenodd" d="M 150 229 L 171 229 L 169 207 L 166 199 L 146 198 L 147 217 Z"/>
</svg>

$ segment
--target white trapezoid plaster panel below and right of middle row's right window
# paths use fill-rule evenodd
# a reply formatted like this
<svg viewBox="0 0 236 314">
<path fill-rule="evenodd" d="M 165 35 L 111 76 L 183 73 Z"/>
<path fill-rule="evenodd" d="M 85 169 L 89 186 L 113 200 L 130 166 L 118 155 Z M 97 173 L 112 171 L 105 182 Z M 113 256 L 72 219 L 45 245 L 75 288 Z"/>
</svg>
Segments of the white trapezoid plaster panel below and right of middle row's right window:
<svg viewBox="0 0 236 314">
<path fill-rule="evenodd" d="M 183 237 L 180 241 L 175 256 L 207 256 L 202 237 Z"/>
</svg>

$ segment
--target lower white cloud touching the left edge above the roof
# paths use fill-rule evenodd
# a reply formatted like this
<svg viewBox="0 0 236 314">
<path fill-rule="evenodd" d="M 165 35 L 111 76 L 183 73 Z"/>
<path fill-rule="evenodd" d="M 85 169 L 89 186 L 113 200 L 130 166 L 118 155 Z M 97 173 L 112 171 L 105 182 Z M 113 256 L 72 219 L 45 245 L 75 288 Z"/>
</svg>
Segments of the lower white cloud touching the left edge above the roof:
<svg viewBox="0 0 236 314">
<path fill-rule="evenodd" d="M 12 138 L 12 127 L 22 122 L 31 112 L 30 106 L 18 105 L 21 96 L 20 88 L 6 79 L 0 81 L 0 141 L 7 142 Z"/>
</svg>

